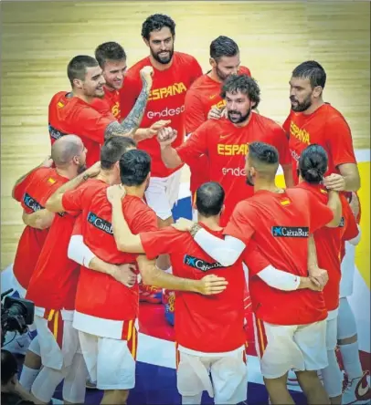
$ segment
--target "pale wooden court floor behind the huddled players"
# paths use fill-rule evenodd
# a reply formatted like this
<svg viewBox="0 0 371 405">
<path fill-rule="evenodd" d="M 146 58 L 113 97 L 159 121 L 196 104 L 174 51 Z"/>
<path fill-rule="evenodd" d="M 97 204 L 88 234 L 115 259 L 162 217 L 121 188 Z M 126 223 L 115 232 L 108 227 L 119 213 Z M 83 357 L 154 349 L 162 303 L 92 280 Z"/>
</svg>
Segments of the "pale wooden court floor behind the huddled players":
<svg viewBox="0 0 371 405">
<path fill-rule="evenodd" d="M 369 2 L 2 2 L 1 269 L 12 263 L 23 229 L 11 189 L 48 155 L 48 102 L 69 89 L 69 59 L 113 40 L 132 65 L 148 54 L 140 32 L 154 13 L 174 18 L 175 49 L 204 71 L 211 40 L 234 38 L 260 83 L 260 113 L 280 122 L 290 108 L 292 69 L 318 60 L 326 101 L 348 119 L 355 148 L 370 148 Z"/>
</svg>

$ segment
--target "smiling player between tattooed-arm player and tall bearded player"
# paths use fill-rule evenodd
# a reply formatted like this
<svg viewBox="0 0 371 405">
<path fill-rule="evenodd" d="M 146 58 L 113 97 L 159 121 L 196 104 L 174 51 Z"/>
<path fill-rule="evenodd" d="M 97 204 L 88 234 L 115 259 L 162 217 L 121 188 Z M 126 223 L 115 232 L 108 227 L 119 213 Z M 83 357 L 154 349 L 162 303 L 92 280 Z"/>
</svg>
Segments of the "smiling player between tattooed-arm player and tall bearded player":
<svg viewBox="0 0 371 405">
<path fill-rule="evenodd" d="M 119 122 L 122 120 L 119 90 L 126 73 L 126 53 L 117 42 L 105 42 L 95 49 L 95 58 L 102 69 L 104 96 L 94 98 L 91 106 L 98 111 L 111 111 Z"/>
</svg>

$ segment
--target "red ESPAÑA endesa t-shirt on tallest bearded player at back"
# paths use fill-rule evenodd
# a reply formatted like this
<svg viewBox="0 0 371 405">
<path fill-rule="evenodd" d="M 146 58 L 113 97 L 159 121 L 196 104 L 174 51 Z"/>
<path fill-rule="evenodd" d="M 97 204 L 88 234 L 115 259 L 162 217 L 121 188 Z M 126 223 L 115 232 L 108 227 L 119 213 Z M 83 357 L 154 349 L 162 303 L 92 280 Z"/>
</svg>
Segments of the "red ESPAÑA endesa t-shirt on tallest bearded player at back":
<svg viewBox="0 0 371 405">
<path fill-rule="evenodd" d="M 136 63 L 125 75 L 121 89 L 122 117 L 129 114 L 142 90 L 140 70 L 145 66 L 151 66 L 149 57 Z M 201 75 L 202 70 L 195 57 L 181 52 L 174 53 L 170 68 L 163 71 L 154 68 L 154 83 L 140 128 L 149 128 L 160 119 L 171 119 L 170 126 L 178 132 L 175 146 L 182 144 L 185 137 L 185 92 Z M 167 169 L 164 166 L 160 145 L 156 137 L 150 140 L 141 140 L 138 143 L 138 148 L 151 155 L 152 176 L 167 177 L 177 170 L 177 168 Z"/>
</svg>

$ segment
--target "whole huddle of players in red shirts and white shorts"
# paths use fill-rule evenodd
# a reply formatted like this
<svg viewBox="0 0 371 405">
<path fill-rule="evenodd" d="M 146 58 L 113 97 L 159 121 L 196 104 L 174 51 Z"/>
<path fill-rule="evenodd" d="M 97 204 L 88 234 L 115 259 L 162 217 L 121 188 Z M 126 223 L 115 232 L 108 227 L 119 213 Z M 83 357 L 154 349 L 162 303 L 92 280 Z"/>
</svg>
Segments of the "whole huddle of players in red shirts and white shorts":
<svg viewBox="0 0 371 405">
<path fill-rule="evenodd" d="M 161 302 L 164 288 L 182 403 L 204 390 L 247 400 L 252 327 L 270 403 L 294 403 L 288 374 L 309 404 L 369 399 L 346 298 L 360 179 L 351 131 L 323 102 L 323 67 L 293 69 L 282 128 L 255 111 L 260 88 L 231 38 L 212 41 L 203 74 L 175 52 L 169 16 L 149 16 L 142 36 L 150 55 L 127 71 L 114 42 L 70 60 L 71 89 L 49 104 L 50 159 L 14 187 L 26 228 L 13 270 L 37 329 L 20 384 L 48 403 L 64 379 L 63 399 L 83 403 L 89 378 L 102 403 L 126 403 L 139 301 Z M 195 221 L 174 223 L 184 164 Z"/>
</svg>

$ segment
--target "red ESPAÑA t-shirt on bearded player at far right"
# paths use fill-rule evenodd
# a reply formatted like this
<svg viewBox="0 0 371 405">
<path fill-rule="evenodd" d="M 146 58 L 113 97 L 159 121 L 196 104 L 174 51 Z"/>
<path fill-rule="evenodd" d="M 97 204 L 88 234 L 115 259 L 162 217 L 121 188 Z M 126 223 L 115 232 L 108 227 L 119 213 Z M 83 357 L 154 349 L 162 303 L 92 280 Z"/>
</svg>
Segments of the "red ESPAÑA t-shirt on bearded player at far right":
<svg viewBox="0 0 371 405">
<path fill-rule="evenodd" d="M 344 163 L 356 163 L 352 134 L 343 115 L 328 103 L 324 103 L 312 114 L 292 111 L 283 124 L 290 136 L 292 173 L 298 183 L 298 161 L 302 151 L 309 145 L 321 145 L 328 155 L 328 171 L 339 173 L 337 167 Z"/>
</svg>

